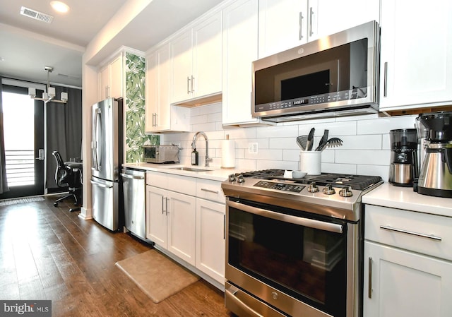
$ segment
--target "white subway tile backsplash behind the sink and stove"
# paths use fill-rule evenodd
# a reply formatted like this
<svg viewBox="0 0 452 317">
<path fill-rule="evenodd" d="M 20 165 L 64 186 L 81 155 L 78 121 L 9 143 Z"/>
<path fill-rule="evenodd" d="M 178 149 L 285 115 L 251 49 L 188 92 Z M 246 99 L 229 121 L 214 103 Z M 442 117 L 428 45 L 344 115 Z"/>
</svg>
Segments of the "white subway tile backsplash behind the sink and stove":
<svg viewBox="0 0 452 317">
<path fill-rule="evenodd" d="M 414 128 L 416 116 L 379 117 L 376 114 L 338 118 L 303 120 L 259 127 L 223 127 L 221 102 L 191 108 L 191 133 L 169 133 L 161 136 L 162 144 L 180 144 L 182 164 L 190 164 L 191 140 L 196 131 L 204 131 L 209 140 L 210 166 L 221 165 L 221 140 L 229 135 L 235 141 L 236 167 L 244 171 L 255 169 L 299 169 L 297 136 L 316 128 L 314 148 L 323 130 L 329 137 L 343 140 L 343 146 L 322 152 L 322 172 L 378 175 L 388 179 L 391 158 L 389 131 L 395 128 Z M 249 143 L 258 143 L 258 154 L 248 152 Z M 201 165 L 204 164 L 205 141 L 198 138 Z"/>
</svg>

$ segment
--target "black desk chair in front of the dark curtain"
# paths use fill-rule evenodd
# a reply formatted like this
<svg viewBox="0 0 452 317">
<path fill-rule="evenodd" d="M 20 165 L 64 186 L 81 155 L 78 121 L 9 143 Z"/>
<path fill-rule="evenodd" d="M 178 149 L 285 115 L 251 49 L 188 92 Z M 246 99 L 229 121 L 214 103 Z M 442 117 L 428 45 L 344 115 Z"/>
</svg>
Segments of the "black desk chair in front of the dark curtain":
<svg viewBox="0 0 452 317">
<path fill-rule="evenodd" d="M 64 164 L 63 159 L 61 158 L 61 154 L 58 151 L 52 152 L 55 160 L 57 160 L 57 170 L 55 171 L 55 181 L 59 187 L 67 187 L 69 190 L 69 194 L 58 198 L 57 201 L 54 202 L 54 206 L 57 207 L 60 201 L 63 201 L 66 198 L 73 198 L 74 205 L 78 205 L 81 199 L 81 169 L 69 167 Z M 80 210 L 80 207 L 71 208 L 69 211 L 73 212 L 76 210 Z"/>
</svg>

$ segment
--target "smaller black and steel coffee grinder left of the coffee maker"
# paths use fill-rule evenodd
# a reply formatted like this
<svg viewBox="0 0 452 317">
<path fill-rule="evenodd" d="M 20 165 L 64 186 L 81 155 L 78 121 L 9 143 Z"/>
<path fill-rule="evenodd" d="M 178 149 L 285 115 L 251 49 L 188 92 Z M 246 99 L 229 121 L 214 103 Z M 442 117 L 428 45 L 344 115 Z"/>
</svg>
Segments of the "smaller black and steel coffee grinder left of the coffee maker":
<svg viewBox="0 0 452 317">
<path fill-rule="evenodd" d="M 412 186 L 419 177 L 417 162 L 417 130 L 398 128 L 389 131 L 391 142 L 391 165 L 389 182 L 395 186 Z"/>
</svg>

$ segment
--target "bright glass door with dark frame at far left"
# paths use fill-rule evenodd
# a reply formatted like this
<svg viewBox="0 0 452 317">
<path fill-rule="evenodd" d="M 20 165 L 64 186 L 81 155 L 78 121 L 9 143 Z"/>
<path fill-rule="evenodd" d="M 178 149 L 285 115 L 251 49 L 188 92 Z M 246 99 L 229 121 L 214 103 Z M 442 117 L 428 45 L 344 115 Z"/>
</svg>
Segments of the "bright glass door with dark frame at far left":
<svg viewBox="0 0 452 317">
<path fill-rule="evenodd" d="M 0 199 L 44 194 L 44 104 L 28 89 L 3 86 L 6 178 Z"/>
</svg>

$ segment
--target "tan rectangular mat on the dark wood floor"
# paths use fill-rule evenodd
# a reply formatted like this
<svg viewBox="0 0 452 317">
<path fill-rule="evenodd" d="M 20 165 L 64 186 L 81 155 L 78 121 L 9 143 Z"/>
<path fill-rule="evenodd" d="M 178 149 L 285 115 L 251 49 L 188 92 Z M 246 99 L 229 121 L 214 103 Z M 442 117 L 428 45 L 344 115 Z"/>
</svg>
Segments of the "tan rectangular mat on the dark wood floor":
<svg viewBox="0 0 452 317">
<path fill-rule="evenodd" d="M 199 277 L 153 249 L 116 265 L 155 303 L 180 292 Z"/>
</svg>

